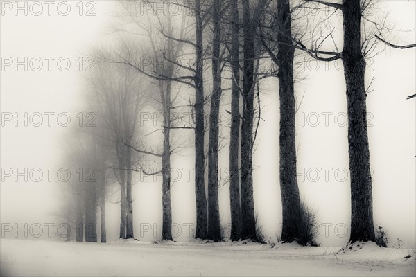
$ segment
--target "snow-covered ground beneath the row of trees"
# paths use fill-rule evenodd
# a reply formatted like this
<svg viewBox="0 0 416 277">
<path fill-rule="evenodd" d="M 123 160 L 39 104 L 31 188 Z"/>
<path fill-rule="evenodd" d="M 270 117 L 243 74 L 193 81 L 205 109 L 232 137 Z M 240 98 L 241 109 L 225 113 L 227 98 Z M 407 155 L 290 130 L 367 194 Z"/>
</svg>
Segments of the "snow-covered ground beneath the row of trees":
<svg viewBox="0 0 416 277">
<path fill-rule="evenodd" d="M 415 276 L 416 267 L 414 249 L 373 243 L 340 251 L 244 242 L 2 239 L 1 271 L 5 276 Z"/>
</svg>

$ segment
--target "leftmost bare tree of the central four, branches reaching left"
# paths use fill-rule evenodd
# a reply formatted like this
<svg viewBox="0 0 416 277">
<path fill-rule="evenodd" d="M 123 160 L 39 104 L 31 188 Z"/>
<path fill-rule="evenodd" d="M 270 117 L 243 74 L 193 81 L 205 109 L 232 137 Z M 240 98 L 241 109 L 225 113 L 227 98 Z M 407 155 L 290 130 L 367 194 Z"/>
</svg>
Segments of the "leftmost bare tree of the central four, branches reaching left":
<svg viewBox="0 0 416 277">
<path fill-rule="evenodd" d="M 202 3 L 201 3 L 202 2 Z M 167 1 L 166 1 L 167 3 Z M 186 4 L 185 4 L 186 3 Z M 179 84 L 186 84 L 189 87 L 195 89 L 195 102 L 193 103 L 193 109 L 191 113 L 193 115 L 194 126 L 191 127 L 168 127 L 168 129 L 192 129 L 195 132 L 195 191 L 196 191 L 196 238 L 207 238 L 207 198 L 205 192 L 205 93 L 204 93 L 204 34 L 203 30 L 209 23 L 209 17 L 211 17 L 211 7 L 204 6 L 205 1 L 195 0 L 191 2 L 177 1 L 175 3 L 169 3 L 170 5 L 177 5 L 187 10 L 191 10 L 193 17 L 183 15 L 181 19 L 179 32 L 174 32 L 172 28 L 171 20 L 172 15 L 167 12 L 163 18 L 157 11 L 153 11 L 153 15 L 157 18 L 158 26 L 148 26 L 144 28 L 144 25 L 135 20 L 135 23 L 141 27 L 141 30 L 145 30 L 150 44 L 153 49 L 153 56 L 159 55 L 157 50 L 160 46 L 158 42 L 162 42 L 164 49 L 162 51 L 163 58 L 168 66 L 172 66 L 175 69 L 171 74 L 167 72 L 148 72 L 147 75 L 150 78 L 158 80 L 158 82 L 176 82 Z M 150 5 L 151 6 L 151 5 Z M 131 10 L 131 9 L 130 9 Z M 132 15 L 134 17 L 134 15 Z M 193 25 L 189 24 L 189 19 L 194 19 L 195 28 L 190 28 Z M 186 24 L 188 22 L 188 24 Z M 151 28 L 150 28 L 151 27 Z M 159 35 L 159 39 L 155 39 L 153 36 Z M 192 34 L 195 32 L 194 35 Z M 168 51 L 166 46 L 173 46 L 171 51 Z M 195 53 L 193 63 L 184 64 L 177 58 L 182 55 L 182 48 L 190 50 Z M 136 66 L 137 68 L 137 66 Z M 179 74 L 178 72 L 184 71 L 187 75 Z M 141 69 L 139 69 L 141 70 Z M 191 106 L 191 105 L 189 105 Z M 166 114 L 167 116 L 167 114 Z M 167 126 L 167 125 L 166 125 Z M 214 129 L 213 129 L 214 130 Z M 212 163 L 211 163 L 212 164 Z M 210 171 L 212 172 L 212 171 Z"/>
</svg>

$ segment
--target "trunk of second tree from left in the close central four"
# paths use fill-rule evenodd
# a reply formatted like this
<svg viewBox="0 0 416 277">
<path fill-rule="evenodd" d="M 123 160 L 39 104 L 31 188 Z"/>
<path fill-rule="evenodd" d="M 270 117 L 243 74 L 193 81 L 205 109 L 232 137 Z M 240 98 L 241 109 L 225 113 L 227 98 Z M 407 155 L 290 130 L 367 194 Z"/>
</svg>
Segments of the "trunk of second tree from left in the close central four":
<svg viewBox="0 0 416 277">
<path fill-rule="evenodd" d="M 212 95 L 209 114 L 208 145 L 208 235 L 209 240 L 221 240 L 220 213 L 218 211 L 218 132 L 221 100 L 220 70 L 220 0 L 214 0 L 212 19 L 214 37 L 212 40 Z"/>
</svg>

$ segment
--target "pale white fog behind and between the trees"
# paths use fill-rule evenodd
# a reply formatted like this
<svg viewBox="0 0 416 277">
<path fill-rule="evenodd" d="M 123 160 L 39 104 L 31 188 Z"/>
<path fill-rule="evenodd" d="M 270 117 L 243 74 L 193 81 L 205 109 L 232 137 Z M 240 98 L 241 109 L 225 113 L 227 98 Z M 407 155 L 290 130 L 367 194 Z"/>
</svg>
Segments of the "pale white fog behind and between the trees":
<svg viewBox="0 0 416 277">
<path fill-rule="evenodd" d="M 57 175 L 68 151 L 64 141 L 69 129 L 80 123 L 80 118 L 87 119 L 88 111 L 83 109 L 85 75 L 89 74 L 85 71 L 88 64 L 85 59 L 91 48 L 111 37 L 110 26 L 116 21 L 114 1 L 94 2 L 96 15 L 93 16 L 80 16 L 76 2 L 69 3 L 72 12 L 68 16 L 59 15 L 53 8 L 51 16 L 34 16 L 31 12 L 27 16 L 23 12 L 15 16 L 14 10 L 4 7 L 1 11 L 1 238 L 24 238 L 24 231 L 16 236 L 14 230 L 5 233 L 3 226 L 11 224 L 14 229 L 16 226 L 25 229 L 24 224 L 40 224 L 44 226 L 44 233 L 39 239 L 63 240 L 58 236 L 60 222 L 56 211 L 65 186 Z M 395 29 L 410 29 L 400 33 L 400 37 L 404 42 L 413 43 L 416 2 L 388 1 L 387 5 Z M 84 6 L 83 13 L 89 8 L 92 7 Z M 6 57 L 10 57 L 13 64 L 6 65 L 10 61 L 6 61 Z M 34 57 L 39 59 L 31 63 Z M 45 57 L 52 57 L 49 58 L 51 70 Z M 15 67 L 15 58 L 23 64 Z M 301 103 L 296 120 L 300 196 L 317 211 L 318 242 L 323 246 L 343 246 L 349 239 L 351 203 L 345 121 L 347 101 L 344 75 L 339 67 L 342 63 L 300 59 L 302 57 L 298 57 L 298 62 L 303 65 L 295 87 L 297 103 Z M 43 67 L 35 71 L 39 60 Z M 406 100 L 416 91 L 415 60 L 415 48 L 385 48 L 367 63 L 366 76 L 367 84 L 374 76 L 373 91 L 367 97 L 374 224 L 388 231 L 390 241 L 399 238 L 407 247 L 415 247 L 416 243 L 416 105 L 415 99 Z M 64 71 L 67 61 L 70 66 Z M 260 84 L 262 110 L 253 170 L 255 211 L 263 233 L 272 240 L 279 237 L 282 217 L 277 88 L 278 82 L 273 78 Z M 220 117 L 225 122 L 229 120 L 226 112 L 229 93 L 223 94 L 225 104 L 220 108 Z M 26 119 L 17 119 L 25 116 Z M 42 124 L 38 124 L 39 120 Z M 159 126 L 154 120 L 151 114 L 142 123 Z M 227 134 L 229 125 L 222 126 L 221 130 Z M 191 228 L 196 221 L 193 132 L 175 130 L 173 136 L 186 138 L 188 146 L 173 154 L 175 172 L 171 189 L 173 236 L 177 241 L 187 241 L 192 239 Z M 229 226 L 230 222 L 226 181 L 228 143 L 229 139 L 223 139 L 224 147 L 220 151 L 220 221 L 224 226 Z M 33 170 L 35 168 L 40 170 Z M 42 178 L 38 177 L 39 171 Z M 162 229 L 162 177 L 144 177 L 136 172 L 133 179 L 135 237 L 156 240 Z M 110 198 L 112 202 L 117 200 L 116 196 Z M 110 201 L 106 205 L 107 241 L 114 241 L 119 238 L 120 208 Z M 50 236 L 46 234 L 45 225 L 49 223 L 56 224 Z M 188 230 L 191 233 L 187 233 Z M 31 231 L 27 236 L 34 239 Z"/>
</svg>

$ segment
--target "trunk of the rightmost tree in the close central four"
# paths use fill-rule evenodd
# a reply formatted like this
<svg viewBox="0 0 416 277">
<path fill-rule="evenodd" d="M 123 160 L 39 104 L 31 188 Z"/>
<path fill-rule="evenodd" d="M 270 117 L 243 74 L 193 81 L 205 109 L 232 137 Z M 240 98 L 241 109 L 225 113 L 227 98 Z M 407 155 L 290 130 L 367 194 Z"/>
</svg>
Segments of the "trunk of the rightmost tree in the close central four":
<svg viewBox="0 0 416 277">
<path fill-rule="evenodd" d="M 250 15 L 248 1 L 243 2 L 244 65 L 243 122 L 241 123 L 241 217 L 243 239 L 257 240 L 254 218 L 252 144 L 254 119 L 254 36 L 257 24 Z"/>
</svg>

